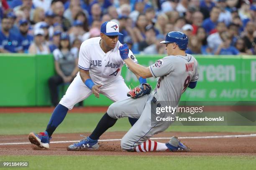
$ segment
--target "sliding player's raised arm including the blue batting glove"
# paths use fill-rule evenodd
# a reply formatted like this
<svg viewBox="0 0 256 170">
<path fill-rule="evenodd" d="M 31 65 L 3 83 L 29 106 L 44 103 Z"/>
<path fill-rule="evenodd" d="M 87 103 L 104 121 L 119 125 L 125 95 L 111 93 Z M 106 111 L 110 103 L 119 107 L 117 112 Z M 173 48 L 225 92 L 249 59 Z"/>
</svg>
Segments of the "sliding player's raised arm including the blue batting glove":
<svg viewBox="0 0 256 170">
<path fill-rule="evenodd" d="M 134 74 L 139 75 L 142 78 L 153 77 L 148 67 L 139 65 L 128 57 L 129 48 L 127 44 L 121 45 L 119 51 L 121 58 Z"/>
</svg>

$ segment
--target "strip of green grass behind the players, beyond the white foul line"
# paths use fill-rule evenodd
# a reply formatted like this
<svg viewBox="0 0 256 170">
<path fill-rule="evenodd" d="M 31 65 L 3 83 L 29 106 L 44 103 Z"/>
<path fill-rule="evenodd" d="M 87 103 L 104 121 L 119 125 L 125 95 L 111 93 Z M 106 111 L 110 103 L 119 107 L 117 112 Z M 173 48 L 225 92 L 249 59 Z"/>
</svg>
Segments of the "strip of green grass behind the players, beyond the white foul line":
<svg viewBox="0 0 256 170">
<path fill-rule="evenodd" d="M 69 113 L 55 133 L 92 132 L 103 114 Z M 50 113 L 4 113 L 0 114 L 0 135 L 28 134 L 44 131 Z M 127 118 L 117 121 L 108 131 L 127 131 L 131 128 Z M 247 132 L 256 133 L 256 126 L 170 126 L 166 131 L 180 132 Z"/>
</svg>

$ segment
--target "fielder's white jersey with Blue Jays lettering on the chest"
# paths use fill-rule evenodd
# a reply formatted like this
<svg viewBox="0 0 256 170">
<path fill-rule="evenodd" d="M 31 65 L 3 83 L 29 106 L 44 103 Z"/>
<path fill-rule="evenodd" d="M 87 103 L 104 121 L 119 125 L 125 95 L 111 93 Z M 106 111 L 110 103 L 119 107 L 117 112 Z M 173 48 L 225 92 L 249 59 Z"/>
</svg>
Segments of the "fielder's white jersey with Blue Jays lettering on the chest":
<svg viewBox="0 0 256 170">
<path fill-rule="evenodd" d="M 118 47 L 122 44 L 118 41 L 113 50 L 105 53 L 100 47 L 100 37 L 85 40 L 79 51 L 78 67 L 82 70 L 89 70 L 90 77 L 96 84 L 107 85 L 121 77 L 121 67 L 124 62 L 120 57 Z M 129 50 L 128 56 L 137 62 L 135 56 Z"/>
</svg>

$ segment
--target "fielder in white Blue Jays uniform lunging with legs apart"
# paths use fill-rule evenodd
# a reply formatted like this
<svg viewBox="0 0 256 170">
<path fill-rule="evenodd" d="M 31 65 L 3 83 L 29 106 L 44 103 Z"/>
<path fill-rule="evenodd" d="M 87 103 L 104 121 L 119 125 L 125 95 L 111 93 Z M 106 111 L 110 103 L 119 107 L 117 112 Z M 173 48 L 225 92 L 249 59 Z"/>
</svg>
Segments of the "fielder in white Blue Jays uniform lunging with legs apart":
<svg viewBox="0 0 256 170">
<path fill-rule="evenodd" d="M 79 51 L 79 73 L 69 85 L 66 94 L 61 98 L 59 105 L 54 109 L 46 131 L 30 133 L 28 138 L 32 144 L 42 148 L 49 148 L 51 135 L 58 125 L 64 120 L 68 110 L 92 93 L 99 97 L 100 94 L 107 96 L 114 102 L 129 98 L 129 88 L 125 85 L 120 75 L 121 67 L 125 62 L 120 57 L 118 47 L 122 44 L 118 41 L 119 26 L 113 21 L 106 21 L 101 25 L 100 37 L 85 40 Z M 131 50 L 128 56 L 137 63 Z M 146 79 L 136 75 L 140 83 Z M 137 119 L 129 119 L 131 125 Z"/>
</svg>

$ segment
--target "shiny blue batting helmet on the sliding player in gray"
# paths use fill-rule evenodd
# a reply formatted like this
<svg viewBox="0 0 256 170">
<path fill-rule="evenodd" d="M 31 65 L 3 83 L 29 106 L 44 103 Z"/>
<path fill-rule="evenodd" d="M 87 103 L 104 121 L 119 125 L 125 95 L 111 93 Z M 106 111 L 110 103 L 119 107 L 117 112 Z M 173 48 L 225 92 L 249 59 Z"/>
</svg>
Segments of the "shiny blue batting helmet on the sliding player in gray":
<svg viewBox="0 0 256 170">
<path fill-rule="evenodd" d="M 171 31 L 167 33 L 165 40 L 161 41 L 160 43 L 164 43 L 164 44 L 176 43 L 179 46 L 179 49 L 187 50 L 188 37 L 183 32 Z"/>
</svg>

